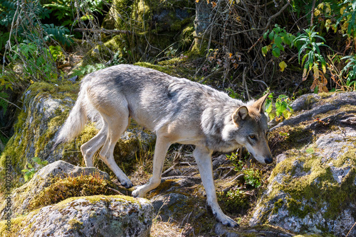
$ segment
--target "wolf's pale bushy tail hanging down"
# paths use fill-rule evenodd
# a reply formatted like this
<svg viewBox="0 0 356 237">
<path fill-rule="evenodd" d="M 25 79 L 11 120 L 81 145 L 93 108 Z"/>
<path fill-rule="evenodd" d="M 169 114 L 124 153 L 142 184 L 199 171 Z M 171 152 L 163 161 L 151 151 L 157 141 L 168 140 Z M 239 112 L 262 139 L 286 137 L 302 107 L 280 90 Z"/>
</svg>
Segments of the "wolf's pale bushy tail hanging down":
<svg viewBox="0 0 356 237">
<path fill-rule="evenodd" d="M 56 143 L 54 143 L 52 150 L 56 149 L 59 144 L 75 138 L 83 130 L 85 123 L 88 121 L 89 105 L 87 101 L 86 88 L 82 87 L 80 88 L 78 99 L 75 101 L 73 109 L 70 111 L 66 122 L 58 133 Z"/>
</svg>

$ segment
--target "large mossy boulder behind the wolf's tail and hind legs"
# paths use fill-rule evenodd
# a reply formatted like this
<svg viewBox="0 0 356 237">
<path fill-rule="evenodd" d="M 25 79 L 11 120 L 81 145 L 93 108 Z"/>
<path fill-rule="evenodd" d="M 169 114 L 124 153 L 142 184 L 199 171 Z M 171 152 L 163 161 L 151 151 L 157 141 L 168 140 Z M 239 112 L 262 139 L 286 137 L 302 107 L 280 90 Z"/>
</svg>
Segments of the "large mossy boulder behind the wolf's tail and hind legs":
<svg viewBox="0 0 356 237">
<path fill-rule="evenodd" d="M 98 133 L 95 123 L 85 126 L 78 138 L 58 145 L 56 150 L 52 150 L 58 131 L 74 105 L 78 89 L 79 84 L 72 84 L 72 82 L 63 82 L 59 85 L 36 82 L 23 94 L 23 109 L 14 126 L 14 136 L 6 144 L 0 157 L 1 177 L 5 176 L 6 165 L 11 166 L 11 189 L 24 183 L 21 170 L 28 163 L 31 163 L 36 170 L 40 168 L 31 160 L 33 157 L 50 163 L 65 160 L 73 165 L 84 165 L 80 145 Z M 117 164 L 120 166 L 127 162 L 129 163 L 127 166 L 132 165 L 130 162 L 135 162 L 136 153 L 150 149 L 154 141 L 153 133 L 144 131 L 132 123 L 116 145 Z M 110 172 L 105 165 L 100 168 Z M 3 182 L 4 180 L 0 179 L 2 187 L 5 186 Z"/>
</svg>

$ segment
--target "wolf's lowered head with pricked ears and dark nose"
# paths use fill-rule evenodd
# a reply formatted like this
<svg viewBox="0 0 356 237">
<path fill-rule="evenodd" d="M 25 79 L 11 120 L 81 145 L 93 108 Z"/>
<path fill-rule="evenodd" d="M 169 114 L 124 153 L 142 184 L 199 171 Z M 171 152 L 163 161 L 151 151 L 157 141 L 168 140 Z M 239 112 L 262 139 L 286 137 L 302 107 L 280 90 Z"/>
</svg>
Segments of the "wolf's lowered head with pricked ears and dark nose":
<svg viewBox="0 0 356 237">
<path fill-rule="evenodd" d="M 268 94 L 247 106 L 241 106 L 232 114 L 232 121 L 238 128 L 236 141 L 263 164 L 273 162 L 267 142 L 268 118 L 264 106 L 267 97 Z"/>
</svg>

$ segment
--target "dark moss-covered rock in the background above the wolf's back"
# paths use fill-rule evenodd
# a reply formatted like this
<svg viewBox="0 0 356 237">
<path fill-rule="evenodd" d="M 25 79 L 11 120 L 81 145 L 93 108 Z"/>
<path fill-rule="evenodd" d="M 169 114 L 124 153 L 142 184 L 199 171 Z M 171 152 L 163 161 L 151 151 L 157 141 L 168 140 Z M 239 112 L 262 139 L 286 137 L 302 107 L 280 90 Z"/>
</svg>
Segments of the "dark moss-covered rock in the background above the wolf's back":
<svg viewBox="0 0 356 237">
<path fill-rule="evenodd" d="M 187 48 L 193 40 L 194 7 L 195 1 L 192 0 L 112 1 L 103 28 L 127 33 L 115 37 L 118 47 L 108 48 L 128 62 L 156 56 L 170 46 Z"/>
</svg>

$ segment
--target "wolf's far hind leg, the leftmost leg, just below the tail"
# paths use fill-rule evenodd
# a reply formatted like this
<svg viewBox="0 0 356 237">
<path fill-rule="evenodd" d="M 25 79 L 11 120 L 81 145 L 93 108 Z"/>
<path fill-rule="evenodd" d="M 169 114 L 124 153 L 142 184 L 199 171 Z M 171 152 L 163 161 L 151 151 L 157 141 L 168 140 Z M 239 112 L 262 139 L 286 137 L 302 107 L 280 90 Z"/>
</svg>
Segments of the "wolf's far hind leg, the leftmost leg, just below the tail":
<svg viewBox="0 0 356 237">
<path fill-rule="evenodd" d="M 86 167 L 93 167 L 93 155 L 104 145 L 108 133 L 108 123 L 103 120 L 103 127 L 98 134 L 80 146 Z"/>
</svg>

